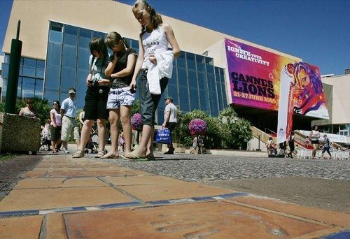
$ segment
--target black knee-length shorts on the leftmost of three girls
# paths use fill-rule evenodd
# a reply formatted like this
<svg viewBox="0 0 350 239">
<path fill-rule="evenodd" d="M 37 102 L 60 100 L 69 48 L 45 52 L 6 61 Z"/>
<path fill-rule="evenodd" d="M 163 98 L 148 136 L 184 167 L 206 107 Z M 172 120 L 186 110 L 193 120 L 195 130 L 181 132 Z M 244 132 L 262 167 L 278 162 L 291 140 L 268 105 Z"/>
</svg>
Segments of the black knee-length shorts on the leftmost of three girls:
<svg viewBox="0 0 350 239">
<path fill-rule="evenodd" d="M 102 92 L 101 92 L 101 91 Z M 109 87 L 88 87 L 85 96 L 84 119 L 108 119 Z"/>
</svg>

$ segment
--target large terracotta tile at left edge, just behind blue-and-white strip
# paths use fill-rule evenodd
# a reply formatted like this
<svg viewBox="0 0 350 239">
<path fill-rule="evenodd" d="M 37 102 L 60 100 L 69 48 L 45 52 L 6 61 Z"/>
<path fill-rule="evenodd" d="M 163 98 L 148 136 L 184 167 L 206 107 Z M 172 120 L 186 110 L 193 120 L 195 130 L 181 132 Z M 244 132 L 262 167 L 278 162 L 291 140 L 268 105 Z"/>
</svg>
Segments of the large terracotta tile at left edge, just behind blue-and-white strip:
<svg viewBox="0 0 350 239">
<path fill-rule="evenodd" d="M 0 211 L 50 209 L 132 201 L 112 187 L 15 189 L 0 201 Z"/>
</svg>

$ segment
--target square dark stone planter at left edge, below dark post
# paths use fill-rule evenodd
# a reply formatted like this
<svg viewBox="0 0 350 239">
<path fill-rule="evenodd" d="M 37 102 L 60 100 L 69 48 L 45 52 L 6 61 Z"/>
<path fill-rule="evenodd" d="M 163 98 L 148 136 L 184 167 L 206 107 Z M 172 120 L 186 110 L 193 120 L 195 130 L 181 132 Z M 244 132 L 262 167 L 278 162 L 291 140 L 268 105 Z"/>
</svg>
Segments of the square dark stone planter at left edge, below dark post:
<svg viewBox="0 0 350 239">
<path fill-rule="evenodd" d="M 37 152 L 40 126 L 38 118 L 0 113 L 0 152 Z"/>
</svg>

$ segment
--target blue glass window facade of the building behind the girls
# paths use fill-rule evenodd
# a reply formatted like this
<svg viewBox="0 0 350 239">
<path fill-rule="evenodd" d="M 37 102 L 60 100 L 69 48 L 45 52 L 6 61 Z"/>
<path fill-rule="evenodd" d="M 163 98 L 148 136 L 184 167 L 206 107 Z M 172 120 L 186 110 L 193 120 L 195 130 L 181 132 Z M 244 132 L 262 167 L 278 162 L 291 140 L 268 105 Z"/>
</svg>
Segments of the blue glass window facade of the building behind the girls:
<svg viewBox="0 0 350 239">
<path fill-rule="evenodd" d="M 29 59 L 25 60 L 24 57 L 22 60 L 23 66 L 21 67 L 26 69 L 25 73 L 30 67 L 30 75 L 33 76 L 31 78 L 28 78 L 27 75 L 21 76 L 25 79 L 22 79 L 22 85 L 18 86 L 21 92 L 24 91 L 20 97 L 40 96 L 50 102 L 55 100 L 62 102 L 68 97 L 68 89 L 75 87 L 76 104 L 78 108 L 83 108 L 85 80 L 89 73 L 89 42 L 95 36 L 105 38 L 106 33 L 59 22 L 50 21 L 49 24 L 46 61 L 31 59 L 30 66 L 27 66 L 26 61 Z M 139 52 L 137 40 L 129 38 L 126 40 L 132 48 Z M 45 77 L 43 77 L 44 65 Z M 45 79 L 44 84 L 43 78 Z M 39 79 L 41 85 L 38 83 Z M 27 85 L 30 85 L 30 91 L 27 90 L 29 89 Z M 163 94 L 163 96 L 168 95 L 174 98 L 174 104 L 179 105 L 183 113 L 200 109 L 207 111 L 209 115 L 217 116 L 227 106 L 224 69 L 215 67 L 210 57 L 181 52 L 180 57 L 174 60 L 172 79 L 169 80 Z M 138 93 L 136 97 L 139 98 Z M 160 101 L 158 106 L 158 122 L 160 123 L 163 121 L 164 109 L 165 102 Z"/>
</svg>

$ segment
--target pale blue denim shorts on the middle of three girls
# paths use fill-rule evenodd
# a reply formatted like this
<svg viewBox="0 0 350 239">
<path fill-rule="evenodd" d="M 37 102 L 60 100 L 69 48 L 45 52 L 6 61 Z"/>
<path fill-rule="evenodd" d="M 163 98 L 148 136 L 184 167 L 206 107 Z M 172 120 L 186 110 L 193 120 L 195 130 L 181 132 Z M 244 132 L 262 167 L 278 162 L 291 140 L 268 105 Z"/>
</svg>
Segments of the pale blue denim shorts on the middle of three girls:
<svg viewBox="0 0 350 239">
<path fill-rule="evenodd" d="M 119 109 L 120 106 L 134 105 L 135 96 L 130 92 L 130 87 L 111 88 L 109 90 L 109 99 L 107 100 L 107 109 Z"/>
</svg>

